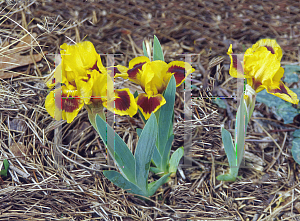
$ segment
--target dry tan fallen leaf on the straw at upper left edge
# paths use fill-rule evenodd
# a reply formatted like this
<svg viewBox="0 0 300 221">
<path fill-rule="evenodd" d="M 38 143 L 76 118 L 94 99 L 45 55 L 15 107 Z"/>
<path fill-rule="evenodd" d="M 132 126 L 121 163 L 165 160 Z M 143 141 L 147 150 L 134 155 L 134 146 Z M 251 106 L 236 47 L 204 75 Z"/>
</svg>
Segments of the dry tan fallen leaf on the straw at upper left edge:
<svg viewBox="0 0 300 221">
<path fill-rule="evenodd" d="M 35 37 L 35 35 L 33 35 L 33 37 Z M 42 54 L 21 55 L 24 51 L 32 47 L 33 42 L 32 37 L 30 35 L 26 35 L 21 38 L 18 44 L 12 49 L 9 49 L 9 44 L 7 42 L 1 45 L 0 78 L 7 79 L 19 76 L 21 73 L 8 72 L 8 70 L 38 62 L 43 58 Z M 45 51 L 44 54 L 46 53 L 47 52 Z"/>
</svg>

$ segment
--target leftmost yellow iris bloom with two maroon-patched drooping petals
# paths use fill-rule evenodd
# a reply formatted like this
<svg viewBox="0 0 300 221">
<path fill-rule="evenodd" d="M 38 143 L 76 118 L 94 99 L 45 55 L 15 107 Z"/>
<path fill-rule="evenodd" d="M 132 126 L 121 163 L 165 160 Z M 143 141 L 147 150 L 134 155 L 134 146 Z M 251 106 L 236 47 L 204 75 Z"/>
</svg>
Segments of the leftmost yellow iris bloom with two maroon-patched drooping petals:
<svg viewBox="0 0 300 221">
<path fill-rule="evenodd" d="M 62 61 L 56 71 L 61 73 L 62 86 L 51 91 L 45 101 L 46 110 L 52 117 L 55 117 L 55 109 L 58 109 L 61 118 L 71 123 L 84 104 L 104 106 L 119 115 L 133 116 L 137 112 L 129 89 L 114 91 L 113 81 L 91 42 L 63 44 L 61 49 Z M 107 87 L 107 82 L 110 87 Z M 47 86 L 53 88 L 55 78 L 47 82 Z"/>
</svg>

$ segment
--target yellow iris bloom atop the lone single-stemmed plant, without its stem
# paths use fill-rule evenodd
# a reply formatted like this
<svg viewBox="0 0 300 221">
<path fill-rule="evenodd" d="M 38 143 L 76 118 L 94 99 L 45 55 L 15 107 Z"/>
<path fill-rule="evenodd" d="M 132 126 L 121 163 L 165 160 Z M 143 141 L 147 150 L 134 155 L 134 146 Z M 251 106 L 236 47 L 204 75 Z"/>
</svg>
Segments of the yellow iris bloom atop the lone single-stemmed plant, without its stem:
<svg viewBox="0 0 300 221">
<path fill-rule="evenodd" d="M 275 40 L 262 39 L 247 49 L 243 62 L 237 60 L 232 52 L 232 45 L 228 49 L 231 59 L 229 74 L 236 78 L 246 78 L 247 84 L 256 93 L 266 89 L 268 93 L 293 104 L 298 104 L 297 95 L 281 81 L 284 69 L 280 65 L 282 50 Z M 239 63 L 240 67 L 239 68 Z"/>
</svg>

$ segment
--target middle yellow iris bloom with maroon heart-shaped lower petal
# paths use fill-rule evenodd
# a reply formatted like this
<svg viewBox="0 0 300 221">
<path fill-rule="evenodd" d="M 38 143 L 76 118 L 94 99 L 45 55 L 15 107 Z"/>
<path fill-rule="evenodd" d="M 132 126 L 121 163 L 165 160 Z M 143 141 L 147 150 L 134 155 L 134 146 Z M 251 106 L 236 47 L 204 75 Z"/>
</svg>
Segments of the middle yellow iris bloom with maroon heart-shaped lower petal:
<svg viewBox="0 0 300 221">
<path fill-rule="evenodd" d="M 149 58 L 141 56 L 132 59 L 129 68 L 118 65 L 115 77 L 129 79 L 141 86 L 145 93 L 139 94 L 136 102 L 145 119 L 148 119 L 152 112 L 156 112 L 166 103 L 162 93 L 171 76 L 174 75 L 178 87 L 194 70 L 190 64 L 183 61 L 173 61 L 169 64 L 161 60 L 150 62 Z"/>
</svg>

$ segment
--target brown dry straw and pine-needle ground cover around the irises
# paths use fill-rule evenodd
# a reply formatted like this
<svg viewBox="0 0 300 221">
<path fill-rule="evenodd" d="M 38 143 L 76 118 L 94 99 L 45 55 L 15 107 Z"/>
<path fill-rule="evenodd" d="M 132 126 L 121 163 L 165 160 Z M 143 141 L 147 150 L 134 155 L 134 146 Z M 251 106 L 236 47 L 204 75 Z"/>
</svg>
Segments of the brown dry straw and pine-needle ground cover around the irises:
<svg viewBox="0 0 300 221">
<path fill-rule="evenodd" d="M 299 115 L 284 124 L 273 109 L 258 103 L 248 127 L 242 178 L 223 183 L 216 180 L 228 169 L 220 125 L 233 131 L 237 105 L 226 99 L 222 109 L 206 98 L 236 93 L 236 80 L 228 74 L 229 44 L 243 52 L 260 38 L 276 38 L 283 64 L 299 64 L 297 3 L 10 2 L 1 1 L 0 18 L 0 157 L 10 161 L 8 176 L 0 180 L 1 220 L 299 219 L 299 165 L 290 152 Z M 125 65 L 142 54 L 142 41 L 153 34 L 166 61 L 196 54 L 192 119 L 184 120 L 181 86 L 174 123 L 176 148 L 183 145 L 185 132 L 192 134 L 192 166 L 181 165 L 177 176 L 145 202 L 103 176 L 109 167 L 106 151 L 87 112 L 71 124 L 55 121 L 44 101 L 61 44 L 89 40 L 101 54 L 120 54 L 116 64 Z M 116 88 L 121 85 L 140 90 L 129 81 L 115 82 Z M 138 115 L 115 118 L 115 131 L 129 147 L 136 146 L 135 129 L 142 127 Z M 61 143 L 58 149 L 56 143 Z"/>
</svg>

